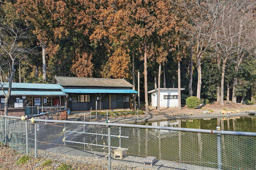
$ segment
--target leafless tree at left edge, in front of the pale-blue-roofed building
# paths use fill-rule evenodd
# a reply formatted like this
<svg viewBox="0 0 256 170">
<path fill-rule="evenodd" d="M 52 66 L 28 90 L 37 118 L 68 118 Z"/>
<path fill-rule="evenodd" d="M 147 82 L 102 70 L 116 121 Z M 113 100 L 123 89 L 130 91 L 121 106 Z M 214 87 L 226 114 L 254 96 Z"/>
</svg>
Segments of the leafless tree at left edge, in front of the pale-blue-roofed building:
<svg viewBox="0 0 256 170">
<path fill-rule="evenodd" d="M 19 61 L 24 60 L 26 53 L 29 52 L 25 48 L 22 41 L 28 38 L 28 27 L 22 28 L 20 24 L 0 24 L 0 71 L 3 80 L 7 82 L 0 82 L 0 88 L 5 96 L 4 114 L 8 114 L 8 101 L 11 96 L 12 82 L 15 74 L 15 65 Z M 5 88 L 8 87 L 8 90 Z"/>
</svg>

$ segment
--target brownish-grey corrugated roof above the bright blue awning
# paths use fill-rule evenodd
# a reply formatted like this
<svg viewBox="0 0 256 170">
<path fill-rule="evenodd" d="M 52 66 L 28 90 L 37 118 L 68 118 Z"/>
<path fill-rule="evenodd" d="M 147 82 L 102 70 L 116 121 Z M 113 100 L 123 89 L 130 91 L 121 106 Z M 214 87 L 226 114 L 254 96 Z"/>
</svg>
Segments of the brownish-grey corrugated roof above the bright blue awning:
<svg viewBox="0 0 256 170">
<path fill-rule="evenodd" d="M 63 86 L 71 87 L 128 87 L 132 84 L 124 79 L 100 79 L 100 78 L 76 78 L 76 77 L 54 77 Z"/>
</svg>

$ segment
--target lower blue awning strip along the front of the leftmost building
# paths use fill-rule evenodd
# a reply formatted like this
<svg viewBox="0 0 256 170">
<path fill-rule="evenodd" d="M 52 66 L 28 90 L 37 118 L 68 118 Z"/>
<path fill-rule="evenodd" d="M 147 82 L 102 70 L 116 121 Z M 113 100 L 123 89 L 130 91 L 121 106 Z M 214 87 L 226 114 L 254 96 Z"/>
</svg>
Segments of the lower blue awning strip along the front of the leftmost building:
<svg viewBox="0 0 256 170">
<path fill-rule="evenodd" d="M 5 94 L 7 94 L 7 90 L 5 90 Z M 11 96 L 66 96 L 63 91 L 11 91 Z M 4 96 L 3 91 L 0 91 L 0 96 Z"/>
</svg>

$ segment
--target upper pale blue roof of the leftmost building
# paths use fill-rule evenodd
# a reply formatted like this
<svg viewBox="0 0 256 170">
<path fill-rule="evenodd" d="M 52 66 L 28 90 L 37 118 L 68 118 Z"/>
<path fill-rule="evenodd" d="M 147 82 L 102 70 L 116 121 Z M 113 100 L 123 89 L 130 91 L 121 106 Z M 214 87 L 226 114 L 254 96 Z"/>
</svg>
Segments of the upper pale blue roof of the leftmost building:
<svg viewBox="0 0 256 170">
<path fill-rule="evenodd" d="M 9 83 L 4 82 L 4 88 L 8 88 Z M 40 83 L 12 83 L 15 89 L 63 89 L 60 84 L 40 84 Z"/>
</svg>

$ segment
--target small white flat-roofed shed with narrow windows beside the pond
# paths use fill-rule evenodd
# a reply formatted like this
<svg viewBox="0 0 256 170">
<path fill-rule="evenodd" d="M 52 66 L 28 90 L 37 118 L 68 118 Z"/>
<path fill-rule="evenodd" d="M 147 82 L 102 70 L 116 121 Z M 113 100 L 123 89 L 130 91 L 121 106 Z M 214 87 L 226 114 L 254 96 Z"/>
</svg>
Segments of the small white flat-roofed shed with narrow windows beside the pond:
<svg viewBox="0 0 256 170">
<path fill-rule="evenodd" d="M 181 88 L 185 90 L 185 88 Z M 148 92 L 151 94 L 151 106 L 157 106 L 158 89 Z M 178 88 L 160 88 L 160 107 L 178 107 Z"/>
</svg>

